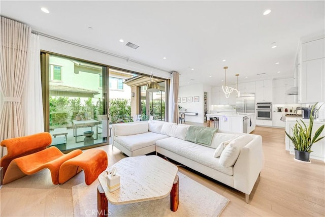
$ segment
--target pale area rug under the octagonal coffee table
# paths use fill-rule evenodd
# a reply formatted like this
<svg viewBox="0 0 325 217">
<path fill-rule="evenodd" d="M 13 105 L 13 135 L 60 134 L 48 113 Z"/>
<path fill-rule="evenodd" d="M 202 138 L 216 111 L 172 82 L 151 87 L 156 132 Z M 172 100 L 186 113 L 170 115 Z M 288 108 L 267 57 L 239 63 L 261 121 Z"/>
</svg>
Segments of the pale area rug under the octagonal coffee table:
<svg viewBox="0 0 325 217">
<path fill-rule="evenodd" d="M 79 174 L 78 174 L 79 175 Z M 178 172 L 179 206 L 170 210 L 170 197 L 140 203 L 113 205 L 109 216 L 219 216 L 229 199 Z M 97 216 L 97 186 L 81 183 L 72 187 L 74 216 Z"/>
</svg>

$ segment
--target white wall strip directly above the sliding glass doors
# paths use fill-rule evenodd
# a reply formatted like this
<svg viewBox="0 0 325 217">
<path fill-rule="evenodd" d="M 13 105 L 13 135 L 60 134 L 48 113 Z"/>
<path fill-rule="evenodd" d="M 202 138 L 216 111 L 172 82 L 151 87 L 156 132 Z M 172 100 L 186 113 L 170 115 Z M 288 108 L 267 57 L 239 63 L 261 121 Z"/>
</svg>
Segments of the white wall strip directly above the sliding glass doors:
<svg viewBox="0 0 325 217">
<path fill-rule="evenodd" d="M 122 69 L 132 70 L 143 74 L 170 79 L 170 73 L 143 66 L 132 61 L 126 61 L 120 57 L 112 56 L 102 52 L 86 49 L 66 42 L 61 42 L 55 39 L 50 39 L 45 36 L 40 36 L 41 50 L 54 52 L 71 57 L 81 58 L 95 63 L 119 67 Z"/>
</svg>

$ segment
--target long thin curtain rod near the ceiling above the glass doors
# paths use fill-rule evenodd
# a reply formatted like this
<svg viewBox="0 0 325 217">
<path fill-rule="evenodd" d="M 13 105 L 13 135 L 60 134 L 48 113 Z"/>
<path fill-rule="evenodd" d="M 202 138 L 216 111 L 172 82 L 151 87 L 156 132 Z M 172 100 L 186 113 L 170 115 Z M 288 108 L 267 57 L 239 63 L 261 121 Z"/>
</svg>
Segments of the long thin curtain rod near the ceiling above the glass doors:
<svg viewBox="0 0 325 217">
<path fill-rule="evenodd" d="M 141 63 L 140 61 L 130 59 L 130 58 L 125 57 L 125 56 L 117 55 L 117 54 L 110 53 L 110 52 L 107 52 L 107 51 L 104 51 L 104 50 L 96 49 L 96 48 L 89 47 L 89 46 L 82 45 L 82 44 L 78 44 L 78 43 L 75 43 L 75 42 L 72 42 L 72 41 L 68 41 L 68 40 L 64 40 L 64 39 L 57 38 L 57 37 L 54 37 L 54 36 L 50 36 L 50 35 L 47 35 L 45 33 L 37 32 L 35 30 L 32 30 L 31 33 L 34 33 L 34 34 L 39 35 L 39 36 L 44 36 L 44 37 L 47 37 L 47 38 L 50 38 L 50 39 L 54 39 L 56 41 L 60 41 L 60 42 L 68 43 L 68 44 L 75 45 L 75 46 L 78 46 L 78 47 L 82 47 L 82 48 L 85 48 L 85 49 L 88 49 L 88 50 L 93 50 L 93 51 L 96 51 L 96 52 L 100 52 L 100 53 L 108 54 L 108 55 L 111 55 L 111 56 L 115 56 L 115 57 L 118 57 L 118 58 L 121 58 L 121 59 L 125 59 L 126 62 L 131 61 L 133 63 L 140 64 L 142 66 L 150 67 L 150 68 L 153 68 L 153 69 L 156 69 L 156 70 L 160 70 L 160 71 L 164 71 L 164 72 L 168 72 L 168 73 L 172 74 L 171 71 L 168 71 L 168 70 L 165 70 L 165 69 L 160 69 L 158 67 L 154 67 L 154 66 L 151 66 L 151 65 L 148 65 L 148 64 L 145 64 L 145 63 Z"/>
</svg>

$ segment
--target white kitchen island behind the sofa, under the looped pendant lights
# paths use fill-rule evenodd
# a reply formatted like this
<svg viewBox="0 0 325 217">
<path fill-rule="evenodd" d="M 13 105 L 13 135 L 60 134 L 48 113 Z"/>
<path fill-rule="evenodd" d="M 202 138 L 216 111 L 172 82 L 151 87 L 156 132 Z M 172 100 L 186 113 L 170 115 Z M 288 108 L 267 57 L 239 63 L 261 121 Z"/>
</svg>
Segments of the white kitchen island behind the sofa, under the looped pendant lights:
<svg viewBox="0 0 325 217">
<path fill-rule="evenodd" d="M 250 133 L 255 130 L 255 113 L 218 112 L 206 115 L 209 118 L 216 118 L 218 129 L 236 133 Z"/>
</svg>

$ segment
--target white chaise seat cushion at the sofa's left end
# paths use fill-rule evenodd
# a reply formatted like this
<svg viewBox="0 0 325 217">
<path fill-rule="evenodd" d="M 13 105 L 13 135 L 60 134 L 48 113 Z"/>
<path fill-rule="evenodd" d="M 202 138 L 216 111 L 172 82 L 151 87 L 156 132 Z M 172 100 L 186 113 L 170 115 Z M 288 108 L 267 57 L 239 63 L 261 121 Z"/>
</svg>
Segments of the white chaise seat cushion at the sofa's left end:
<svg viewBox="0 0 325 217">
<path fill-rule="evenodd" d="M 168 136 L 163 134 L 157 134 L 152 132 L 127 135 L 127 136 L 115 136 L 114 142 L 118 142 L 129 151 L 138 150 L 140 148 L 148 147 L 156 144 L 159 139 L 165 139 Z"/>
</svg>

